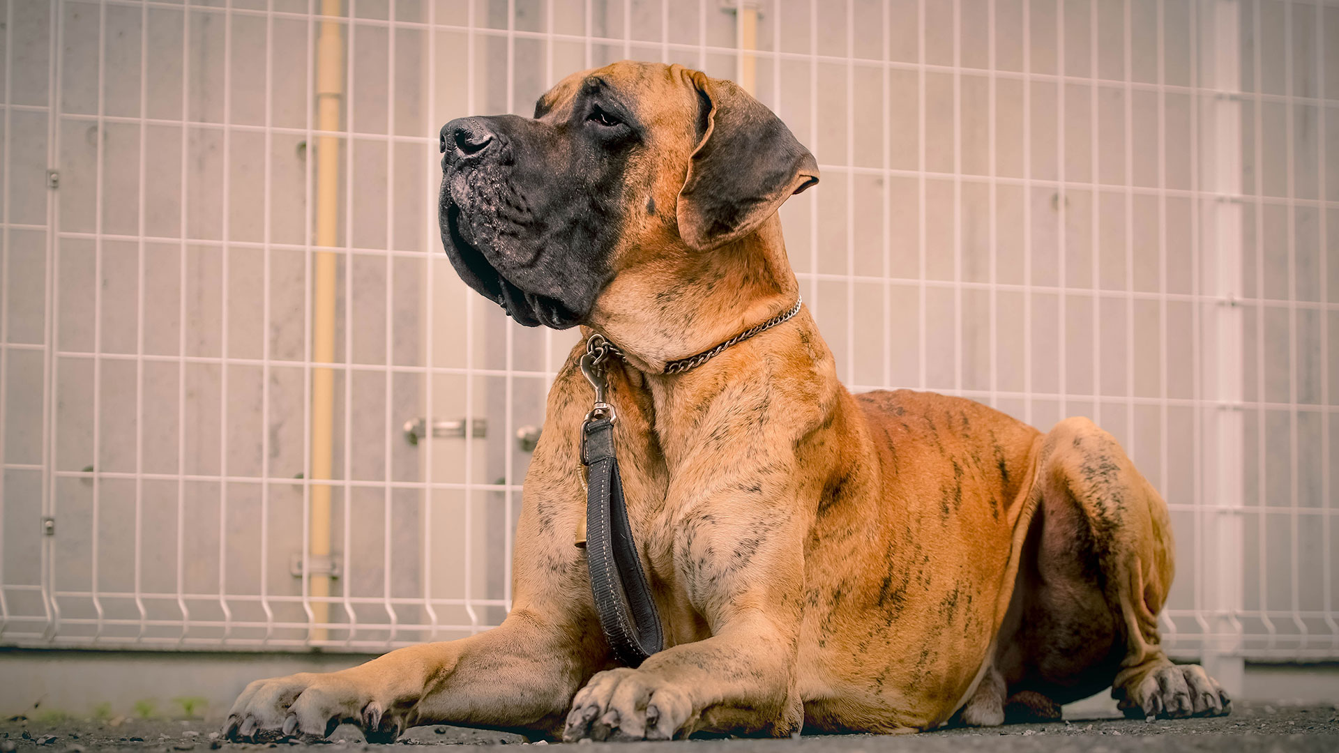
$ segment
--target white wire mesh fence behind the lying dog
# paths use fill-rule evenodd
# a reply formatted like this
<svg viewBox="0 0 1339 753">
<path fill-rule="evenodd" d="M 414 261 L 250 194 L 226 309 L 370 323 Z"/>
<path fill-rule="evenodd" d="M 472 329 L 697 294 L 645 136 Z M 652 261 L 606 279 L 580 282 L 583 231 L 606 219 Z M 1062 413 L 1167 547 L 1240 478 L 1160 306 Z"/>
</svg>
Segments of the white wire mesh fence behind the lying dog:
<svg viewBox="0 0 1339 753">
<path fill-rule="evenodd" d="M 1042 429 L 1093 417 L 1172 508 L 1174 653 L 1339 658 L 1335 4 L 339 11 L 323 131 L 315 0 L 0 0 L 0 643 L 383 650 L 495 624 L 576 335 L 458 281 L 437 130 L 637 58 L 747 67 L 818 157 L 783 222 L 849 386 Z M 332 364 L 313 350 L 321 137 L 340 150 Z M 329 481 L 311 477 L 323 368 Z"/>
</svg>

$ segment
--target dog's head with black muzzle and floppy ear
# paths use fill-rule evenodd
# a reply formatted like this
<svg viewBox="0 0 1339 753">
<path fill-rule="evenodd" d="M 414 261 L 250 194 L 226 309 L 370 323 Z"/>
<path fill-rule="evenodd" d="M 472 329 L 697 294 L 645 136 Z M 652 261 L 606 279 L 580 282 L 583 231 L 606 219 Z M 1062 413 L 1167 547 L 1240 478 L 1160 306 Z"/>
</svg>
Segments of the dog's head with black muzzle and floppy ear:
<svg viewBox="0 0 1339 753">
<path fill-rule="evenodd" d="M 532 327 L 584 323 L 629 264 L 742 238 L 818 181 L 813 154 L 742 88 L 653 63 L 573 74 L 533 119 L 451 121 L 441 147 L 451 264 Z"/>
</svg>

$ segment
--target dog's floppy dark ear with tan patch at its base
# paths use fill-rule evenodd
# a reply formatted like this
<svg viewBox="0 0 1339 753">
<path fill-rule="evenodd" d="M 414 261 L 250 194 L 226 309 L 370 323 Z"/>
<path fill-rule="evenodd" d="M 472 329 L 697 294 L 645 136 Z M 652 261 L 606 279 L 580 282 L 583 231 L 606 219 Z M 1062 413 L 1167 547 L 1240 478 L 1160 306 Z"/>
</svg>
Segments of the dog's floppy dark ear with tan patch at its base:
<svg viewBox="0 0 1339 753">
<path fill-rule="evenodd" d="M 691 74 L 698 149 L 679 190 L 679 236 L 711 249 L 754 232 L 786 198 L 818 182 L 818 162 L 786 123 L 734 82 Z"/>
</svg>

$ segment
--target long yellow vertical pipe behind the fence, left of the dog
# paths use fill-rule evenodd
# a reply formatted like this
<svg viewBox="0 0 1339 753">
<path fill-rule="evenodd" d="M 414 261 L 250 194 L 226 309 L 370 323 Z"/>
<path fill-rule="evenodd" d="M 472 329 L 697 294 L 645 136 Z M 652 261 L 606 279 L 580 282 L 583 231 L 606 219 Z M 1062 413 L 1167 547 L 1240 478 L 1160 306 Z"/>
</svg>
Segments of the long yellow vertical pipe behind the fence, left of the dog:
<svg viewBox="0 0 1339 753">
<path fill-rule="evenodd" d="M 340 106 L 344 100 L 343 0 L 321 0 L 320 36 L 316 40 L 316 245 L 335 248 L 339 241 L 339 137 Z M 316 252 L 316 280 L 312 301 L 312 360 L 335 363 L 335 296 L 337 260 L 335 252 Z M 347 441 L 347 438 L 345 438 Z M 331 480 L 335 443 L 335 370 L 312 370 L 312 494 L 308 552 L 309 561 L 331 553 Z M 345 500 L 345 504 L 348 501 Z M 312 599 L 331 594 L 328 573 L 308 573 Z M 329 622 L 329 604 L 312 602 L 312 622 Z M 312 628 L 312 640 L 325 640 L 324 627 Z"/>
</svg>

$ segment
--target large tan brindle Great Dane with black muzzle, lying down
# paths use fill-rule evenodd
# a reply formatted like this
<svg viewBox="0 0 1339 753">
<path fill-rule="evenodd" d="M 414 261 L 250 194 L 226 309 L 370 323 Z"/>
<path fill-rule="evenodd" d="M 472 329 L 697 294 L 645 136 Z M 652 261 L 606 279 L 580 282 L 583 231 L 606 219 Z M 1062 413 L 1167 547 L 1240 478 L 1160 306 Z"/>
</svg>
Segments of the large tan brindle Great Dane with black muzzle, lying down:
<svg viewBox="0 0 1339 753">
<path fill-rule="evenodd" d="M 533 119 L 453 121 L 442 150 L 461 277 L 522 324 L 623 352 L 604 397 L 664 648 L 617 661 L 574 545 L 595 402 L 578 346 L 525 478 L 502 624 L 256 681 L 229 737 L 893 733 L 1054 720 L 1107 686 L 1130 715 L 1228 713 L 1160 647 L 1168 510 L 1110 434 L 838 383 L 777 214 L 818 166 L 740 87 L 616 63 L 564 79 Z"/>
</svg>

